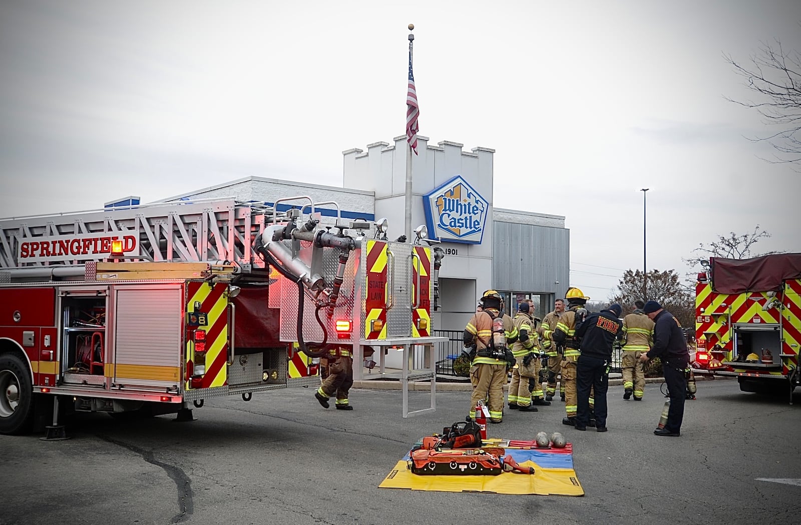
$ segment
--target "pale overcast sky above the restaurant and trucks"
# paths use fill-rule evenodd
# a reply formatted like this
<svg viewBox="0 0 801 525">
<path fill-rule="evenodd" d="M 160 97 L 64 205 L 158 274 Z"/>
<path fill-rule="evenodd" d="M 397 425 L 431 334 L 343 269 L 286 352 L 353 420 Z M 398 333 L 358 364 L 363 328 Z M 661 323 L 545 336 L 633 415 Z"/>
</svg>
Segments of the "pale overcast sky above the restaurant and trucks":
<svg viewBox="0 0 801 525">
<path fill-rule="evenodd" d="M 642 267 L 641 188 L 650 268 L 757 224 L 801 251 L 801 174 L 759 159 L 723 58 L 801 51 L 798 0 L 2 0 L 0 216 L 341 186 L 343 150 L 404 134 L 409 22 L 420 134 L 497 150 L 495 206 L 565 215 L 593 299 Z"/>
</svg>

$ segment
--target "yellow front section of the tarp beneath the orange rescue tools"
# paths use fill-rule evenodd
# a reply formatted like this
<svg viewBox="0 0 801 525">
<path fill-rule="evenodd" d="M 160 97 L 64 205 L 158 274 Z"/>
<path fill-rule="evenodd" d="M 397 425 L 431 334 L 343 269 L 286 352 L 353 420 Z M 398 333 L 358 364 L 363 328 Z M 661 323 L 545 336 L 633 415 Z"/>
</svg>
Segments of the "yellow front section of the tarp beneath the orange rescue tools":
<svg viewBox="0 0 801 525">
<path fill-rule="evenodd" d="M 508 450 L 513 457 L 515 451 Z M 521 451 L 522 452 L 522 451 Z M 530 454 L 529 454 L 530 456 Z M 548 459 L 545 455 L 539 455 Z M 407 488 L 413 491 L 492 492 L 494 494 L 538 494 L 582 496 L 584 489 L 578 483 L 572 468 L 543 468 L 535 461 L 522 461 L 523 467 L 534 467 L 534 475 L 504 472 L 501 475 L 417 475 L 401 459 L 384 478 L 379 488 Z M 569 459 L 572 464 L 572 458 Z"/>
</svg>

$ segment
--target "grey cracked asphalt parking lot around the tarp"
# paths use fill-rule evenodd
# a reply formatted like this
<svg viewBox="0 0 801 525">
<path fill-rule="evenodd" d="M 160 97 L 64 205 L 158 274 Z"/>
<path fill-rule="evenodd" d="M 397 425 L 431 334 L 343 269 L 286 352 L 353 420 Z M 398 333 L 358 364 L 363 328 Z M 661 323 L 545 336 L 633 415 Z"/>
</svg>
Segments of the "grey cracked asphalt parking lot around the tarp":
<svg viewBox="0 0 801 525">
<path fill-rule="evenodd" d="M 790 405 L 699 382 L 680 438 L 652 434 L 664 402 L 654 383 L 637 403 L 610 387 L 606 434 L 563 426 L 559 402 L 489 427 L 509 439 L 562 431 L 583 497 L 379 489 L 417 439 L 465 416 L 469 393 L 438 391 L 435 413 L 403 419 L 400 391 L 354 389 L 350 412 L 324 410 L 312 392 L 210 399 L 189 423 L 76 415 L 66 441 L 0 436 L 0 524 L 797 520 L 801 391 Z M 412 408 L 427 396 L 411 392 Z"/>
</svg>

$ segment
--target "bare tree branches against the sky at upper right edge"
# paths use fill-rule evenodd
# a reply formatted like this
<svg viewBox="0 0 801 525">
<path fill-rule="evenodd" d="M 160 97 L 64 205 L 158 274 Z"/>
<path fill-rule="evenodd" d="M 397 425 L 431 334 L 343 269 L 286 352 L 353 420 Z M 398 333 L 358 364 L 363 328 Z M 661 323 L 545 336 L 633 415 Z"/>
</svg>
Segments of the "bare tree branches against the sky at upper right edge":
<svg viewBox="0 0 801 525">
<path fill-rule="evenodd" d="M 763 159 L 776 164 L 801 166 L 801 54 L 784 50 L 782 42 L 761 42 L 751 63 L 743 65 L 729 54 L 723 58 L 746 79 L 746 86 L 759 95 L 756 101 L 740 101 L 726 97 L 730 102 L 753 108 L 775 131 L 750 138 L 753 142 L 768 142 L 779 152 L 774 159 Z M 799 169 L 801 171 L 801 169 Z"/>
</svg>

